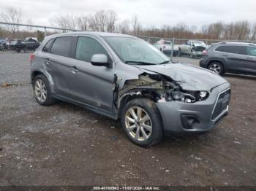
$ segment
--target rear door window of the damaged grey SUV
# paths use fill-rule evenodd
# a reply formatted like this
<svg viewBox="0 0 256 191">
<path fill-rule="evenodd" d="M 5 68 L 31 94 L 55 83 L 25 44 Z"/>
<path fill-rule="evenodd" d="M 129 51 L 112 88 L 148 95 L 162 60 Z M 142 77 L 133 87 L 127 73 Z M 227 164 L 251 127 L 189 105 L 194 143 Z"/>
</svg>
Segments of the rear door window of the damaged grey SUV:
<svg viewBox="0 0 256 191">
<path fill-rule="evenodd" d="M 62 55 L 69 57 L 69 46 L 71 43 L 71 36 L 59 37 L 53 42 L 50 52 L 55 55 Z"/>
</svg>

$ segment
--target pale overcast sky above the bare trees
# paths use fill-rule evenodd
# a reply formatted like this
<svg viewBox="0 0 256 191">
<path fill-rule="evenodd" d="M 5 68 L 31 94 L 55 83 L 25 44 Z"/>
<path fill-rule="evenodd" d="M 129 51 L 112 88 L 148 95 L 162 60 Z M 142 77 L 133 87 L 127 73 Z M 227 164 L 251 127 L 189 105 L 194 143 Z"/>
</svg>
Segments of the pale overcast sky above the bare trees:
<svg viewBox="0 0 256 191">
<path fill-rule="evenodd" d="M 50 26 L 54 15 L 93 14 L 100 9 L 114 10 L 118 21 L 138 15 L 143 26 L 186 23 L 200 27 L 236 20 L 256 23 L 256 0 L 1 0 L 0 13 L 4 7 L 21 9 L 23 17 L 43 26 Z"/>
</svg>

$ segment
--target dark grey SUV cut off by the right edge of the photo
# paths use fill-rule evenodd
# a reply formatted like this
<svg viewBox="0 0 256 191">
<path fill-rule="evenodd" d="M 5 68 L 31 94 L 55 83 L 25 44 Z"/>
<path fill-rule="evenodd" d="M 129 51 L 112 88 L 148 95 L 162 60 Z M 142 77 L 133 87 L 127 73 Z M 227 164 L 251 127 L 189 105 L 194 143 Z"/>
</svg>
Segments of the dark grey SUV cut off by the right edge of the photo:
<svg viewBox="0 0 256 191">
<path fill-rule="evenodd" d="M 220 42 L 203 52 L 200 66 L 217 74 L 256 74 L 256 44 Z"/>
</svg>

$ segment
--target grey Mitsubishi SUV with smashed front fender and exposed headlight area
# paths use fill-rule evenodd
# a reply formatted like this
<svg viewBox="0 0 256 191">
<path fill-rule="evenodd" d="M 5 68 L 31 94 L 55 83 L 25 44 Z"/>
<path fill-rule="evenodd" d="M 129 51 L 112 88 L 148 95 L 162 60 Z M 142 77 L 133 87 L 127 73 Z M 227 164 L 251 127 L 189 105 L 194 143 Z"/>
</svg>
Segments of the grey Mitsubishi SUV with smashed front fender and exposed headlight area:
<svg viewBox="0 0 256 191">
<path fill-rule="evenodd" d="M 127 137 L 151 146 L 169 133 L 204 133 L 227 115 L 230 84 L 143 39 L 76 32 L 45 37 L 31 57 L 38 104 L 67 101 L 121 120 Z"/>
</svg>

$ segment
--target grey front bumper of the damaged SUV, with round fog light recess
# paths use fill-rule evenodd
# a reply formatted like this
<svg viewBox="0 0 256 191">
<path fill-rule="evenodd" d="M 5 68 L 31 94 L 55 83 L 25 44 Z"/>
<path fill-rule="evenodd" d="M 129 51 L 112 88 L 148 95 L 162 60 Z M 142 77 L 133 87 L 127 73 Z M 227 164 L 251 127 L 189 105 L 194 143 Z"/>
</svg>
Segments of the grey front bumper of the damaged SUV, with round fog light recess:
<svg viewBox="0 0 256 191">
<path fill-rule="evenodd" d="M 230 97 L 225 102 L 225 109 L 213 117 L 219 95 L 227 90 L 230 90 L 228 82 L 211 90 L 205 101 L 193 104 L 179 101 L 157 103 L 165 133 L 203 133 L 214 128 L 227 115 Z"/>
</svg>

